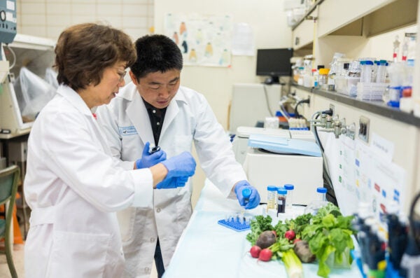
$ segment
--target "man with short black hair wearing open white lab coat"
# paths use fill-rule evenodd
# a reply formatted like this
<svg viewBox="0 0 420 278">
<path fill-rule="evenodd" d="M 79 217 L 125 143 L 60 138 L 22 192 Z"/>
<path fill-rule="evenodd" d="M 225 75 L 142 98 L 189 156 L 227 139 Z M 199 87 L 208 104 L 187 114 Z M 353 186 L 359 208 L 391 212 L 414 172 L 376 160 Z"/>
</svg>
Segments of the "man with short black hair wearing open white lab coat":
<svg viewBox="0 0 420 278">
<path fill-rule="evenodd" d="M 137 62 L 130 71 L 132 83 L 108 106 L 99 107 L 114 156 L 132 167 L 147 142 L 160 146 L 167 157 L 191 151 L 193 141 L 202 169 L 221 193 L 232 194 L 246 209 L 260 203 L 258 191 L 246 181 L 236 162 L 223 127 L 207 100 L 198 92 L 180 87 L 181 50 L 162 35 L 136 41 Z M 147 145 L 146 145 L 147 146 Z M 251 191 L 245 200 L 242 190 Z M 192 187 L 156 192 L 154 208 L 130 208 L 118 214 L 126 259 L 125 277 L 150 276 L 155 258 L 159 277 L 169 265 L 181 232 L 192 214 Z"/>
</svg>

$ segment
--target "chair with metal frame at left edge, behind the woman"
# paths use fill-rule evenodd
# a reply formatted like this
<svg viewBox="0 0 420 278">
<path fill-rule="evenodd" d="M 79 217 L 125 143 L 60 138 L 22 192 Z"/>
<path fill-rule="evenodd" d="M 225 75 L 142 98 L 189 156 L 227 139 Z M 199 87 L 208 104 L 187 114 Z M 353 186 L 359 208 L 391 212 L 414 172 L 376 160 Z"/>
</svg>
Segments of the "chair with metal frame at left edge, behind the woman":
<svg viewBox="0 0 420 278">
<path fill-rule="evenodd" d="M 16 165 L 0 170 L 0 205 L 5 205 L 5 218 L 0 219 L 0 239 L 4 239 L 4 253 L 12 278 L 17 278 L 15 265 L 13 264 L 13 206 L 15 205 L 16 192 L 20 168 Z"/>
</svg>

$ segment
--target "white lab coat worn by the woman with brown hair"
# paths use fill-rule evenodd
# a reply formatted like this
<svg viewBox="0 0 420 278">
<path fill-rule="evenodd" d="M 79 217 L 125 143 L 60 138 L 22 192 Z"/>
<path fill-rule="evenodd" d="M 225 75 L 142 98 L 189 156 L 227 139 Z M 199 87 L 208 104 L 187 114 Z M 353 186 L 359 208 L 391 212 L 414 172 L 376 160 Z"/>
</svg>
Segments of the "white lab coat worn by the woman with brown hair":
<svg viewBox="0 0 420 278">
<path fill-rule="evenodd" d="M 28 144 L 26 277 L 121 277 L 114 211 L 152 207 L 150 170 L 118 166 L 90 109 L 67 86 L 41 111 Z"/>
</svg>

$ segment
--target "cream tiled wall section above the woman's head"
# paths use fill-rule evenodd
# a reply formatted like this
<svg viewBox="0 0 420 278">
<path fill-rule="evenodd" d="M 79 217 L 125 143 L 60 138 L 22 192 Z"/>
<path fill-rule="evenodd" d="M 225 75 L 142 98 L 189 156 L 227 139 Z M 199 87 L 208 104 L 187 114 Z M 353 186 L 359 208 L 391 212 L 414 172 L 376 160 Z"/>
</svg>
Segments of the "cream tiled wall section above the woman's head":
<svg viewBox="0 0 420 278">
<path fill-rule="evenodd" d="M 154 0 L 17 0 L 18 34 L 57 40 L 70 25 L 105 22 L 132 36 L 150 34 Z"/>
</svg>

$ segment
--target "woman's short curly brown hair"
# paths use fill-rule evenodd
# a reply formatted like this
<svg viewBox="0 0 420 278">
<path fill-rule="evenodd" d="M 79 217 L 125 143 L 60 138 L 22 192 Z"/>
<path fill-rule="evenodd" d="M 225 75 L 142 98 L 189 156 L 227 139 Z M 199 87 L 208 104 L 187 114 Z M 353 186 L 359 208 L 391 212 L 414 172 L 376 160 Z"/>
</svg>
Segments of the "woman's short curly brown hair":
<svg viewBox="0 0 420 278">
<path fill-rule="evenodd" d="M 55 46 L 57 81 L 73 90 L 101 82 L 104 69 L 117 62 L 130 67 L 137 59 L 130 36 L 106 25 L 83 23 L 65 29 Z"/>
</svg>

